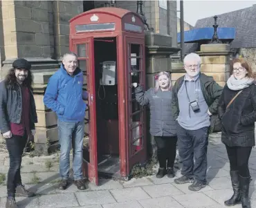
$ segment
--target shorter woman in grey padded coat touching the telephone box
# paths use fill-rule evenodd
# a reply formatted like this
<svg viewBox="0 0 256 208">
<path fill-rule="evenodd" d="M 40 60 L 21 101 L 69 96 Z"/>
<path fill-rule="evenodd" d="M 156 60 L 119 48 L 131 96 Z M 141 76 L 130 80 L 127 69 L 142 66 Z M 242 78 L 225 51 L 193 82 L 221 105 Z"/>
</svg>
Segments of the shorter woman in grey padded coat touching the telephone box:
<svg viewBox="0 0 256 208">
<path fill-rule="evenodd" d="M 150 133 L 154 135 L 157 146 L 159 169 L 157 178 L 167 176 L 174 178 L 174 160 L 176 156 L 176 122 L 172 117 L 171 79 L 167 72 L 156 75 L 156 87 L 150 88 L 145 93 L 137 83 L 135 87 L 137 102 L 150 108 Z M 167 161 L 167 164 L 166 164 Z"/>
</svg>

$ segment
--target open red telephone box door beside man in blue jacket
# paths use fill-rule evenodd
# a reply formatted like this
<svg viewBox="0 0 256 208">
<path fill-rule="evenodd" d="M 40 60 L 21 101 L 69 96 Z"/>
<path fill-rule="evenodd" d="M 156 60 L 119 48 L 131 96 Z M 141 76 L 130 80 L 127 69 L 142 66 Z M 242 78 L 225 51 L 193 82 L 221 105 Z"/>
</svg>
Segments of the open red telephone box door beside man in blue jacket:
<svg viewBox="0 0 256 208">
<path fill-rule="evenodd" d="M 97 158 L 97 126 L 95 105 L 95 72 L 94 72 L 94 44 L 93 37 L 73 39 L 73 51 L 77 54 L 78 66 L 84 73 L 84 88 L 88 92 L 88 102 L 85 117 L 85 138 L 89 143 L 84 144 L 83 171 L 84 175 L 95 185 L 98 185 Z"/>
</svg>

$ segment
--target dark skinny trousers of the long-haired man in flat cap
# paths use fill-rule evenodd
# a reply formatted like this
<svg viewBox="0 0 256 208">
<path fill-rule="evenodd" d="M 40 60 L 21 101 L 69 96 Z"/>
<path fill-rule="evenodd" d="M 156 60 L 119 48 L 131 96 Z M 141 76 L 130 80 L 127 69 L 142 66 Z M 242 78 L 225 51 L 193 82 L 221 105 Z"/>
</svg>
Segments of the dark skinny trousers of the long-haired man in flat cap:
<svg viewBox="0 0 256 208">
<path fill-rule="evenodd" d="M 27 136 L 12 135 L 6 139 L 6 146 L 9 152 L 10 168 L 7 178 L 7 196 L 15 197 L 17 185 L 21 185 L 21 158 L 26 146 Z"/>
</svg>

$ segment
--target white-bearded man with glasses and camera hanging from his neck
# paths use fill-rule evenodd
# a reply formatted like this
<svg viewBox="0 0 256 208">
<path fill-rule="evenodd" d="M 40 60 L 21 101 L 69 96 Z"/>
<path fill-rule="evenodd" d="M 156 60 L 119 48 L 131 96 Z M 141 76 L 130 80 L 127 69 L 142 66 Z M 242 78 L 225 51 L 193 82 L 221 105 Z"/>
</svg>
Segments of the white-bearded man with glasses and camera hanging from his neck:
<svg viewBox="0 0 256 208">
<path fill-rule="evenodd" d="M 192 182 L 188 189 L 199 191 L 206 184 L 208 133 L 213 128 L 210 116 L 217 114 L 222 88 L 212 77 L 200 73 L 199 55 L 190 53 L 183 62 L 186 74 L 172 89 L 172 113 L 183 163 L 183 176 L 174 182 Z"/>
</svg>

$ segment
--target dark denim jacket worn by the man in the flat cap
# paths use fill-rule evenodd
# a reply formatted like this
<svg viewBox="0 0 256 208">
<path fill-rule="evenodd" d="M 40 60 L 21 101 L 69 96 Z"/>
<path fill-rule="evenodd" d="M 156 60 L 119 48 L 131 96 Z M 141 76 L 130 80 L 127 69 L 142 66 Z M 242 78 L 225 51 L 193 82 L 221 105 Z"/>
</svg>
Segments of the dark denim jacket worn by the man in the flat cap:
<svg viewBox="0 0 256 208">
<path fill-rule="evenodd" d="M 0 82 L 0 131 L 10 131 L 10 122 L 19 124 L 21 122 L 22 95 L 21 87 L 17 84 L 17 90 Z M 30 91 L 30 129 L 35 129 L 37 123 L 37 112 L 32 91 Z"/>
</svg>

